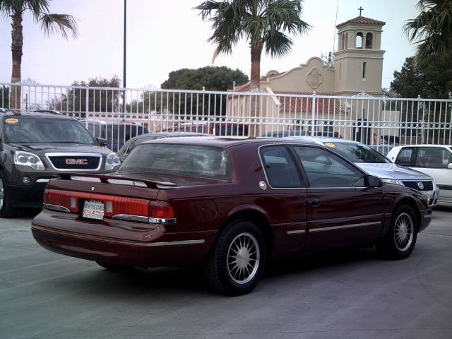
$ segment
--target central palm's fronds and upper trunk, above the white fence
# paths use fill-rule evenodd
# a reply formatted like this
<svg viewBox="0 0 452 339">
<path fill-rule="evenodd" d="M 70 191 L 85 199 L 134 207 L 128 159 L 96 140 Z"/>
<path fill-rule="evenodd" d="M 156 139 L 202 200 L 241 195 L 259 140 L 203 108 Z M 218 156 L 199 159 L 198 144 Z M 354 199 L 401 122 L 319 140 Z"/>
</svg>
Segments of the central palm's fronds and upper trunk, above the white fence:
<svg viewBox="0 0 452 339">
<path fill-rule="evenodd" d="M 207 0 L 195 7 L 203 20 L 212 22 L 213 35 L 208 41 L 220 53 L 231 54 L 239 40 L 249 41 L 251 49 L 251 90 L 259 88 L 261 54 L 265 49 L 271 57 L 283 57 L 292 49 L 293 41 L 285 35 L 302 34 L 310 26 L 300 17 L 299 0 Z M 215 12 L 215 14 L 212 14 Z"/>
</svg>

